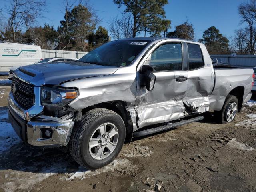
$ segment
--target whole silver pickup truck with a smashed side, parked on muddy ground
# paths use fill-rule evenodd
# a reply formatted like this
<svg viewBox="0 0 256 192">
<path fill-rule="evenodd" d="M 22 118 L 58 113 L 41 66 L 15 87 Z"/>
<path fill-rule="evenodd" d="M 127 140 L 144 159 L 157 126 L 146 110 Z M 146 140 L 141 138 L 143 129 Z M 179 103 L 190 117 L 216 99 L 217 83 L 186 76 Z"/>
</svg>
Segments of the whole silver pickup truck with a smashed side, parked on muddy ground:
<svg viewBox="0 0 256 192">
<path fill-rule="evenodd" d="M 232 122 L 253 70 L 213 68 L 204 44 L 172 38 L 108 42 L 75 62 L 14 71 L 9 119 L 34 146 L 67 146 L 78 164 L 112 162 L 124 142 L 203 119 Z"/>
</svg>

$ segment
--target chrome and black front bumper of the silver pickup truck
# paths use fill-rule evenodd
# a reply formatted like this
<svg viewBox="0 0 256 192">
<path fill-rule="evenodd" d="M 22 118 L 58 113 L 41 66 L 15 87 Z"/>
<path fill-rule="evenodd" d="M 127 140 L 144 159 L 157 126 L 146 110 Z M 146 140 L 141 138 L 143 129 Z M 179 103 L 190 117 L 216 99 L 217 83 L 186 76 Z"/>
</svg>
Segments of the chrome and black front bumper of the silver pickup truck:
<svg viewBox="0 0 256 192">
<path fill-rule="evenodd" d="M 66 146 L 74 126 L 72 119 L 62 122 L 43 121 L 35 119 L 26 121 L 8 105 L 8 117 L 17 135 L 26 143 L 34 146 Z M 42 138 L 42 130 L 51 130 L 50 138 Z"/>
</svg>

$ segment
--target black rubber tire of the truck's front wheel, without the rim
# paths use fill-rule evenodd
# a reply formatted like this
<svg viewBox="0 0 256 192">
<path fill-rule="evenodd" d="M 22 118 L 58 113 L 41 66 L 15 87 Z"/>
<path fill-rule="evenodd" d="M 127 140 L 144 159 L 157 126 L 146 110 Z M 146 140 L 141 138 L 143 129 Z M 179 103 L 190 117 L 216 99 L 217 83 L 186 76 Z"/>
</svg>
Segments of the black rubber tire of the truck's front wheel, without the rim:
<svg viewBox="0 0 256 192">
<path fill-rule="evenodd" d="M 118 141 L 114 151 L 104 159 L 92 157 L 89 150 L 89 141 L 94 131 L 106 122 L 110 122 L 118 129 Z M 95 170 L 111 163 L 118 156 L 125 139 L 125 125 L 122 118 L 114 111 L 105 108 L 96 108 L 86 112 L 82 119 L 73 128 L 69 150 L 74 160 L 81 166 Z"/>
</svg>

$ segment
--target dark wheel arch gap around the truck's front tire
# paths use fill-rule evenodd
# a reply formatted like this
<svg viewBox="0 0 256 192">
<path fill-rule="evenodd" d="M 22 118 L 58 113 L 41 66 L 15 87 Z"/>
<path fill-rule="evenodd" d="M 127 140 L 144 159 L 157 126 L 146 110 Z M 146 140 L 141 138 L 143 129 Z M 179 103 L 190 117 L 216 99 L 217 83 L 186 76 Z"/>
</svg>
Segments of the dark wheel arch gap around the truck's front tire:
<svg viewBox="0 0 256 192">
<path fill-rule="evenodd" d="M 132 118 L 130 116 L 130 112 L 127 108 L 127 103 L 124 101 L 108 101 L 108 102 L 102 102 L 98 103 L 92 106 L 88 106 L 82 110 L 82 114 L 88 112 L 89 110 L 92 110 L 94 108 L 106 108 L 109 110 L 112 110 L 119 114 L 121 118 L 124 121 L 125 128 L 126 128 L 126 136 L 125 136 L 125 143 L 129 143 L 132 140 L 132 133 L 133 133 L 133 122 Z"/>
</svg>

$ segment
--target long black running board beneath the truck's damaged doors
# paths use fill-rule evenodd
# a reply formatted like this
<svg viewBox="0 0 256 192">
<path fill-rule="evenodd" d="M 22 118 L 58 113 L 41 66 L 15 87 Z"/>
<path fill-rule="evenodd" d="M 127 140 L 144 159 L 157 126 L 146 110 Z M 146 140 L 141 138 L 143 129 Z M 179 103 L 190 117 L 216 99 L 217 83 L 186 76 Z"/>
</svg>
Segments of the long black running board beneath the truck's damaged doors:
<svg viewBox="0 0 256 192">
<path fill-rule="evenodd" d="M 203 120 L 203 119 L 204 119 L 203 116 L 199 116 L 199 117 L 191 118 L 191 119 L 188 119 L 188 120 L 183 120 L 183 121 L 180 121 L 180 122 L 171 123 L 171 124 L 160 126 L 160 127 L 155 127 L 155 128 L 146 129 L 146 130 L 143 130 L 143 131 L 134 132 L 132 136 L 133 137 L 142 137 L 142 136 L 150 135 L 150 134 L 157 133 L 157 132 L 160 132 L 160 131 L 168 130 L 168 129 L 171 129 L 171 128 L 174 128 L 174 127 L 177 127 L 177 126 L 182 126 L 182 125 L 185 125 L 185 124 L 188 124 L 188 123 L 200 121 L 200 120 Z"/>
</svg>

